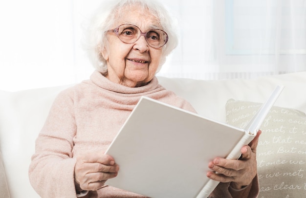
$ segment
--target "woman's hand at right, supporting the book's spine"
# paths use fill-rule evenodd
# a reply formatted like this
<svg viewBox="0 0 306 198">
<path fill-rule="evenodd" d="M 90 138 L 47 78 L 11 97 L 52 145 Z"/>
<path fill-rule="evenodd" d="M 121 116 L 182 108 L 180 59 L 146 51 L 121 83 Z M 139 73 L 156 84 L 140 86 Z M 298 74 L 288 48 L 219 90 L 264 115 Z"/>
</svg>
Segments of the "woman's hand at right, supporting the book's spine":
<svg viewBox="0 0 306 198">
<path fill-rule="evenodd" d="M 242 155 L 239 160 L 215 158 L 211 161 L 208 167 L 212 171 L 207 173 L 207 177 L 220 182 L 231 182 L 235 189 L 249 185 L 257 175 L 256 148 L 260 134 L 261 131 L 249 145 L 241 148 Z"/>
</svg>

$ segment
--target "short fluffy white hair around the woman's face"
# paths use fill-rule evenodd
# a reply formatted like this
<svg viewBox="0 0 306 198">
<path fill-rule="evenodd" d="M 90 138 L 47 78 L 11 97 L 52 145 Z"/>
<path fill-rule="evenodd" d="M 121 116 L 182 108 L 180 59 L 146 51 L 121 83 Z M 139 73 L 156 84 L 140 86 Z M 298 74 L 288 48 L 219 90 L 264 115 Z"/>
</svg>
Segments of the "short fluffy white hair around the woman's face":
<svg viewBox="0 0 306 198">
<path fill-rule="evenodd" d="M 165 7 L 156 0 L 103 0 L 102 5 L 93 15 L 85 32 L 83 46 L 87 55 L 96 70 L 107 73 L 107 62 L 101 52 L 107 49 L 108 40 L 106 31 L 113 28 L 116 19 L 123 9 L 139 6 L 142 10 L 149 10 L 149 13 L 159 20 L 161 29 L 167 32 L 168 42 L 162 47 L 162 55 L 156 72 L 165 63 L 166 57 L 175 49 L 178 43 L 176 26 L 173 18 Z"/>
</svg>

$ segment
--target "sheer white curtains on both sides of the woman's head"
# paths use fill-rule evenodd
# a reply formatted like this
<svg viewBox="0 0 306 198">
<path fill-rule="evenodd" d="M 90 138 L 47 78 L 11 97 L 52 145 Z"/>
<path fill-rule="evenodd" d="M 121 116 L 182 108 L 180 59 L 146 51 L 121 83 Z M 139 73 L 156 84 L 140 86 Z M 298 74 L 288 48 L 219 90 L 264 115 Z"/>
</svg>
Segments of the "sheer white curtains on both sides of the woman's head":
<svg viewBox="0 0 306 198">
<path fill-rule="evenodd" d="M 70 84 L 93 71 L 82 23 L 101 0 L 0 1 L 0 89 Z M 157 74 L 254 78 L 306 70 L 306 0 L 162 0 L 179 45 Z"/>
</svg>

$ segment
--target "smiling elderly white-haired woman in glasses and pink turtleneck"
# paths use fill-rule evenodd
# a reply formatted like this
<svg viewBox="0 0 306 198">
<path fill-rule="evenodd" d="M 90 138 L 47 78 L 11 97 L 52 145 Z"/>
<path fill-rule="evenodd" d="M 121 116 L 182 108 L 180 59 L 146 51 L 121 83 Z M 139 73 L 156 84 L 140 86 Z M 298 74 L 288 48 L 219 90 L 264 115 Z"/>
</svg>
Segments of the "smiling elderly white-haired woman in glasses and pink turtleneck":
<svg viewBox="0 0 306 198">
<path fill-rule="evenodd" d="M 120 0 L 98 10 L 87 45 L 96 71 L 59 94 L 36 140 L 29 178 L 41 197 L 142 197 L 105 185 L 120 171 L 104 152 L 141 96 L 195 112 L 155 77 L 176 47 L 172 24 L 163 6 L 149 0 Z M 241 148 L 240 160 L 207 164 L 211 172 L 203 178 L 221 182 L 211 197 L 257 197 L 257 140 Z"/>
</svg>

